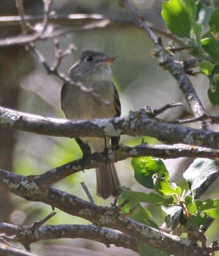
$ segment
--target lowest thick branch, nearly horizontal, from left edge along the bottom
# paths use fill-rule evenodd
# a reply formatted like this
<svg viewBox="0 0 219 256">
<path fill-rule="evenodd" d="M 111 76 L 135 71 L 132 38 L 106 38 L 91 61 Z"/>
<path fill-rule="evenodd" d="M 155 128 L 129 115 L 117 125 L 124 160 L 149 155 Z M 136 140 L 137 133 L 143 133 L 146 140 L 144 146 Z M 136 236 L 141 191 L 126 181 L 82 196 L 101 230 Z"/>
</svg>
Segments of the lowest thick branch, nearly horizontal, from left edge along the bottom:
<svg viewBox="0 0 219 256">
<path fill-rule="evenodd" d="M 137 252 L 136 239 L 122 232 L 95 225 L 45 225 L 32 231 L 30 226 L 18 227 L 8 223 L 0 223 L 0 232 L 6 236 L 15 236 L 13 241 L 35 243 L 48 239 L 83 238 L 104 243 L 114 244 Z"/>
</svg>

